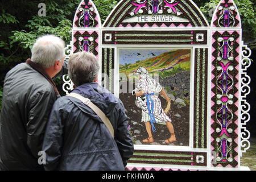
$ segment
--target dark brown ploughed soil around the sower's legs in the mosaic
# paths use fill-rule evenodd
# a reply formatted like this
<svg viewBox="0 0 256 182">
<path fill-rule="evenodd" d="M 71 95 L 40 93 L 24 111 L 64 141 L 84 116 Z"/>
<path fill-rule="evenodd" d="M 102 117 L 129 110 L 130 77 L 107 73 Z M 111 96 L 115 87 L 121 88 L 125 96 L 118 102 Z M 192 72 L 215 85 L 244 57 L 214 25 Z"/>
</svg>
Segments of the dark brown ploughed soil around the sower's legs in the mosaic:
<svg viewBox="0 0 256 182">
<path fill-rule="evenodd" d="M 135 96 L 131 93 L 121 93 L 119 98 L 122 100 L 126 109 L 126 115 L 129 117 L 130 133 L 133 137 L 134 144 L 145 144 L 143 139 L 147 138 L 147 131 L 144 123 L 141 122 L 141 109 L 135 105 Z M 167 101 L 160 97 L 163 109 L 167 106 Z M 177 104 L 172 101 L 171 109 L 168 112 L 168 117 L 171 118 L 174 125 L 177 142 L 169 144 L 175 146 L 189 146 L 189 105 L 177 107 Z M 156 132 L 153 133 L 155 142 L 151 144 L 167 145 L 164 140 L 170 137 L 170 133 L 164 124 L 154 123 Z"/>
</svg>

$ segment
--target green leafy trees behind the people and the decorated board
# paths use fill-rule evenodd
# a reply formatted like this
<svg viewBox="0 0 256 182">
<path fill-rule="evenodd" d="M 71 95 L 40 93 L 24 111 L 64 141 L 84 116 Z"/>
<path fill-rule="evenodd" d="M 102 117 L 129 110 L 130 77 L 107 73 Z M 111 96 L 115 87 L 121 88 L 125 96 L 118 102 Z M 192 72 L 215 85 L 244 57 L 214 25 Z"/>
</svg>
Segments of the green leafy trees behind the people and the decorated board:
<svg viewBox="0 0 256 182">
<path fill-rule="evenodd" d="M 71 41 L 72 21 L 81 0 L 5 0 L 0 2 L 0 105 L 6 73 L 31 56 L 30 48 L 38 36 L 54 34 Z M 194 0 L 210 20 L 211 10 L 220 0 Z M 102 23 L 119 0 L 94 0 Z M 255 39 L 254 0 L 235 0 L 242 17 L 243 39 Z M 46 4 L 46 16 L 38 16 L 39 3 Z M 56 84 L 61 90 L 61 80 Z M 1 107 L 0 107 L 1 110 Z"/>
</svg>

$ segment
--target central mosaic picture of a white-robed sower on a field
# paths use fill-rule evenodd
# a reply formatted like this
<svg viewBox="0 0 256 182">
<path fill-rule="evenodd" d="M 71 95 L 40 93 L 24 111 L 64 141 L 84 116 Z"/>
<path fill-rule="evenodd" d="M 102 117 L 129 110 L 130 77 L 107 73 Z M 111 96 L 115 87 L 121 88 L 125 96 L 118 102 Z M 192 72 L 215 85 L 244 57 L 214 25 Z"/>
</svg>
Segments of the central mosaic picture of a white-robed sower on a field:
<svg viewBox="0 0 256 182">
<path fill-rule="evenodd" d="M 191 49 L 119 49 L 119 98 L 134 144 L 189 146 L 190 75 Z"/>
</svg>

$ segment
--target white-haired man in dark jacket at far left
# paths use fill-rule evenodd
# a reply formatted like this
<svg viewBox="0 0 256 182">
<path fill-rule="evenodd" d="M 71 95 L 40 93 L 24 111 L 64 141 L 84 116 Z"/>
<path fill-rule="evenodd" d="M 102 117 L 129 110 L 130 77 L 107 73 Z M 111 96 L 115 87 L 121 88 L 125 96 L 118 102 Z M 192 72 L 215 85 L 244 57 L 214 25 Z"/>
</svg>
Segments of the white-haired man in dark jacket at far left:
<svg viewBox="0 0 256 182">
<path fill-rule="evenodd" d="M 43 170 L 38 155 L 46 123 L 59 92 L 53 77 L 67 74 L 65 43 L 53 35 L 38 38 L 31 59 L 6 77 L 0 115 L 0 170 Z"/>
</svg>

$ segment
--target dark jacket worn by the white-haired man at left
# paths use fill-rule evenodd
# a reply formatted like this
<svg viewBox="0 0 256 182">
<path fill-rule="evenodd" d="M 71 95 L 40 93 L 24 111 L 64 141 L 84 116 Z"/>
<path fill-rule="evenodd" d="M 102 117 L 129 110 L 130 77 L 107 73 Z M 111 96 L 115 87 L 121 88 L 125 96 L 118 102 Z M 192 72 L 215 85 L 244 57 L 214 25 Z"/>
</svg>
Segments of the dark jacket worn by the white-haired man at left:
<svg viewBox="0 0 256 182">
<path fill-rule="evenodd" d="M 67 62 L 57 76 L 67 74 Z M 5 77 L 0 115 L 0 170 L 43 170 L 38 152 L 57 99 L 53 86 L 27 63 Z"/>
</svg>

